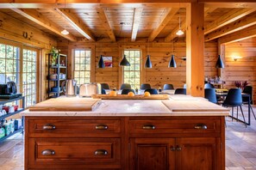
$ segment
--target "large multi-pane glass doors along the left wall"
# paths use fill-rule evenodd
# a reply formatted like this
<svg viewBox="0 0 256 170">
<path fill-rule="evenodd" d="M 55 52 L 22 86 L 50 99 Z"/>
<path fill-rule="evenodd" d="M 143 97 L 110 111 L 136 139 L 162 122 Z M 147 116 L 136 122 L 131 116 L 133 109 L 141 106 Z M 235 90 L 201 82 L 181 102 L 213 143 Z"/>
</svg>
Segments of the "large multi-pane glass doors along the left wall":
<svg viewBox="0 0 256 170">
<path fill-rule="evenodd" d="M 28 107 L 37 101 L 37 51 L 22 47 L 0 44 L 0 83 L 16 82 L 17 91 L 25 96 L 25 107 Z"/>
</svg>

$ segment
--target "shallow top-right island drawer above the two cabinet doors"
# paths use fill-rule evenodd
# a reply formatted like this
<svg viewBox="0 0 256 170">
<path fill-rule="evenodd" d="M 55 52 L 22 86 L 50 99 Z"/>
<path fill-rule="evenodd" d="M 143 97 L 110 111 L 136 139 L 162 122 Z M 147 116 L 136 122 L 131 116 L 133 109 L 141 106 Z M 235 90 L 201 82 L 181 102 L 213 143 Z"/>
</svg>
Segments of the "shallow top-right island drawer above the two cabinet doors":
<svg viewBox="0 0 256 170">
<path fill-rule="evenodd" d="M 134 118 L 129 120 L 130 133 L 213 133 L 221 132 L 220 118 Z"/>
</svg>

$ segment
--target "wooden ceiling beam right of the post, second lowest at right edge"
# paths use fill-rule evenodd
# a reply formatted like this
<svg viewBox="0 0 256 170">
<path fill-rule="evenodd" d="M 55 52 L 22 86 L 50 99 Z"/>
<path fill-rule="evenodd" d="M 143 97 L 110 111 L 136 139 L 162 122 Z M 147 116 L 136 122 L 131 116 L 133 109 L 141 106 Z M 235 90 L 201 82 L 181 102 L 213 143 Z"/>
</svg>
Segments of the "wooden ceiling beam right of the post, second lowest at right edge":
<svg viewBox="0 0 256 170">
<path fill-rule="evenodd" d="M 234 33 L 236 31 L 239 31 L 246 27 L 251 27 L 255 24 L 256 24 L 256 14 L 247 15 L 245 17 L 240 18 L 237 21 L 234 21 L 234 22 L 228 24 L 225 27 L 221 27 L 212 33 L 206 34 L 204 39 L 205 39 L 205 41 L 217 39 L 219 37 L 227 35 L 228 33 Z"/>
</svg>

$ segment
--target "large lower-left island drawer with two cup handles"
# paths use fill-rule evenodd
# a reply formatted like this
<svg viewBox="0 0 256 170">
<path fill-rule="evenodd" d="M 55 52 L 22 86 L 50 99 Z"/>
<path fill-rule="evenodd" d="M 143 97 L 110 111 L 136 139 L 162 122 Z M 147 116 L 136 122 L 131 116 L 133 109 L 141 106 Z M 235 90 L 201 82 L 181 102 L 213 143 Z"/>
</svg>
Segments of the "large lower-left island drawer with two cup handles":
<svg viewBox="0 0 256 170">
<path fill-rule="evenodd" d="M 65 164 L 83 165 L 120 165 L 120 138 L 31 138 L 29 151 L 31 165 L 52 165 L 61 167 Z"/>
</svg>

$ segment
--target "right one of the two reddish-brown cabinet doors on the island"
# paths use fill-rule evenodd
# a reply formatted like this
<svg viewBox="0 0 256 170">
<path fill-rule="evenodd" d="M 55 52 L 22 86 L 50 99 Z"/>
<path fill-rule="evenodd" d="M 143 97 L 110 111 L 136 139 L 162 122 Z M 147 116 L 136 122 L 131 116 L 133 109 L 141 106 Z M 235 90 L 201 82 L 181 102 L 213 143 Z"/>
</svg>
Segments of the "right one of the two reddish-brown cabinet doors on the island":
<svg viewBox="0 0 256 170">
<path fill-rule="evenodd" d="M 221 169 L 220 138 L 184 137 L 176 145 L 177 167 L 180 170 Z"/>
</svg>

